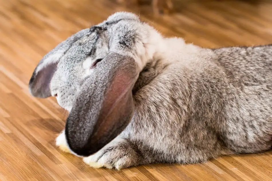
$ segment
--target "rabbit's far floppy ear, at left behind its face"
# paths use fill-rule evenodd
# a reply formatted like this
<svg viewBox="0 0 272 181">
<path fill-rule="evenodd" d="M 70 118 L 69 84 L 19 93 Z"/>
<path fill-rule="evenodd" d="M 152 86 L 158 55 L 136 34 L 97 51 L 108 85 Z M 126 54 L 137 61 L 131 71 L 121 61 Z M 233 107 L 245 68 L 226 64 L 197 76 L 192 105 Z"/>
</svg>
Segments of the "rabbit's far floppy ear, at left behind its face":
<svg viewBox="0 0 272 181">
<path fill-rule="evenodd" d="M 89 31 L 89 29 L 83 29 L 68 37 L 40 60 L 37 67 L 34 69 L 28 84 L 29 92 L 32 96 L 39 98 L 47 98 L 51 96 L 49 85 L 55 71 L 57 70 L 58 61 L 72 43 L 80 39 L 80 37 Z"/>
</svg>

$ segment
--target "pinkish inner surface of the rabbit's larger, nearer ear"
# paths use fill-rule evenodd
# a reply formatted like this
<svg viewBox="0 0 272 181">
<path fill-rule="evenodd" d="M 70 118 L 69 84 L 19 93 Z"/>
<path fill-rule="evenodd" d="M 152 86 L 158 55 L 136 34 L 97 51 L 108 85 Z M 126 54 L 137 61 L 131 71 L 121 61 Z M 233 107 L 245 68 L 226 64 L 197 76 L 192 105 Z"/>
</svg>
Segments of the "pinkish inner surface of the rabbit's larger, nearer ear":
<svg viewBox="0 0 272 181">
<path fill-rule="evenodd" d="M 107 134 L 120 134 L 134 113 L 132 88 L 135 76 L 119 71 L 105 94 L 103 107 L 94 128 L 93 139 L 103 140 Z M 94 141 L 93 140 L 93 141 Z"/>
</svg>

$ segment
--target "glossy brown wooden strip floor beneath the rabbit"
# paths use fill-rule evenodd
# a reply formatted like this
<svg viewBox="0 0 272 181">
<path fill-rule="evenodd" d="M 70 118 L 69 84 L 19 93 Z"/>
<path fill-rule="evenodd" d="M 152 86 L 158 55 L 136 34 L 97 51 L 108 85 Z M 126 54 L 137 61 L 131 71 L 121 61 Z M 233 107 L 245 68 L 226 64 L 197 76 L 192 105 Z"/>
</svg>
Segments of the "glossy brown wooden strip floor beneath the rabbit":
<svg viewBox="0 0 272 181">
<path fill-rule="evenodd" d="M 255 1 L 256 2 L 256 1 Z M 54 140 L 66 112 L 36 99 L 28 81 L 43 55 L 71 34 L 126 10 L 166 36 L 203 47 L 272 43 L 272 1 L 174 1 L 175 13 L 153 17 L 148 4 L 109 0 L 0 0 L 0 180 L 272 180 L 272 152 L 224 156 L 206 164 L 93 169 Z"/>
</svg>

